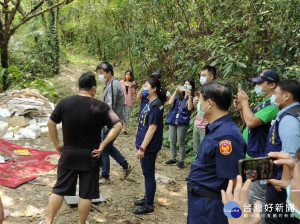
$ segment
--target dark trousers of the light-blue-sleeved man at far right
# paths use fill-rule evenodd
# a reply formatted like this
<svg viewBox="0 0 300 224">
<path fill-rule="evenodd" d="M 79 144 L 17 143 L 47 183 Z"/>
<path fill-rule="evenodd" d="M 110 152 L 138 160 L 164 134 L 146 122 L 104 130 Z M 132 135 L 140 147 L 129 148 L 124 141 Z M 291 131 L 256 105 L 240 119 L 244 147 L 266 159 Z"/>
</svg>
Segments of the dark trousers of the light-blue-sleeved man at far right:
<svg viewBox="0 0 300 224">
<path fill-rule="evenodd" d="M 266 192 L 266 206 L 268 206 L 268 211 L 266 212 L 266 223 L 268 224 L 300 224 L 300 220 L 296 218 L 291 218 L 291 213 L 286 211 L 286 190 L 282 189 L 277 191 L 273 185 L 268 184 Z M 276 212 L 276 205 L 283 205 L 281 211 Z M 271 207 L 272 206 L 272 209 Z M 274 217 L 275 216 L 275 217 Z M 287 217 L 285 217 L 287 216 Z"/>
</svg>

